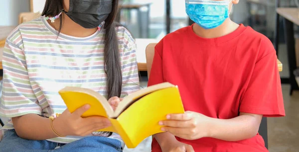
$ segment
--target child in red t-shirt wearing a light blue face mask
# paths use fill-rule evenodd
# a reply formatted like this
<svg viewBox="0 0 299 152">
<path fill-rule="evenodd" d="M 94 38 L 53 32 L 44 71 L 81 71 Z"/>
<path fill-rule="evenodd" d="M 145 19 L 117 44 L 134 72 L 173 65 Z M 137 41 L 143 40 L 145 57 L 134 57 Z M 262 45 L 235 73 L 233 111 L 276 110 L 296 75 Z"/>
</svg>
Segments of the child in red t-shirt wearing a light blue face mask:
<svg viewBox="0 0 299 152">
<path fill-rule="evenodd" d="M 251 27 L 229 19 L 239 0 L 186 0 L 195 24 L 155 47 L 149 85 L 178 85 L 185 114 L 159 122 L 152 152 L 267 152 L 263 116 L 285 116 L 276 51 Z"/>
</svg>

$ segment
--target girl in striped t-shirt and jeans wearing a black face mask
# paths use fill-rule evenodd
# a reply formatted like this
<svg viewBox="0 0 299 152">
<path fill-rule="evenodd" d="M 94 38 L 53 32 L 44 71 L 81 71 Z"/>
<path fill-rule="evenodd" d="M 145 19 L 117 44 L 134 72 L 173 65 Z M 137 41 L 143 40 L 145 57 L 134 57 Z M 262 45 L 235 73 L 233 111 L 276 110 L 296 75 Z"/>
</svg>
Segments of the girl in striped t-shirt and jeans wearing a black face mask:
<svg viewBox="0 0 299 152">
<path fill-rule="evenodd" d="M 122 151 L 119 135 L 95 132 L 110 126 L 106 118 L 81 118 L 89 105 L 70 113 L 58 94 L 65 86 L 90 88 L 117 106 L 139 89 L 132 85 L 139 83 L 135 41 L 114 22 L 118 3 L 46 0 L 41 17 L 11 32 L 0 114 L 12 121 L 2 128 L 1 152 Z"/>
</svg>

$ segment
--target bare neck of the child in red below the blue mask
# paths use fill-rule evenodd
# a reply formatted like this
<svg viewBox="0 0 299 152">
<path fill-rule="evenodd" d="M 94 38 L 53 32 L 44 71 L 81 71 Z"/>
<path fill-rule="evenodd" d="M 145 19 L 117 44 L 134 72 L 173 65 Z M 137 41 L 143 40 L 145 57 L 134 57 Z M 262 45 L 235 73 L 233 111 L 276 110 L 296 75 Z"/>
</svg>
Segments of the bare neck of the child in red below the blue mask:
<svg viewBox="0 0 299 152">
<path fill-rule="evenodd" d="M 220 26 L 213 29 L 204 29 L 198 24 L 193 25 L 193 31 L 196 35 L 203 38 L 217 38 L 232 33 L 239 27 L 239 24 L 227 18 Z"/>
</svg>

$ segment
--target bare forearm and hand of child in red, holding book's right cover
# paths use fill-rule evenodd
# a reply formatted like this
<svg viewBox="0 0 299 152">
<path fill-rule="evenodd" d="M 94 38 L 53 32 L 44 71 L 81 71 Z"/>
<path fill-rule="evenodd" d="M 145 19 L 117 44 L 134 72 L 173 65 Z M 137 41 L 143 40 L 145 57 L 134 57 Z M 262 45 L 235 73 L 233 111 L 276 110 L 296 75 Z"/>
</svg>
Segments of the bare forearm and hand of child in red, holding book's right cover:
<svg viewBox="0 0 299 152">
<path fill-rule="evenodd" d="M 218 119 L 188 111 L 185 114 L 171 114 L 160 125 L 167 126 L 162 131 L 187 140 L 211 137 L 224 141 L 241 141 L 257 135 L 262 117 L 263 115 L 241 113 L 236 118 Z"/>
</svg>

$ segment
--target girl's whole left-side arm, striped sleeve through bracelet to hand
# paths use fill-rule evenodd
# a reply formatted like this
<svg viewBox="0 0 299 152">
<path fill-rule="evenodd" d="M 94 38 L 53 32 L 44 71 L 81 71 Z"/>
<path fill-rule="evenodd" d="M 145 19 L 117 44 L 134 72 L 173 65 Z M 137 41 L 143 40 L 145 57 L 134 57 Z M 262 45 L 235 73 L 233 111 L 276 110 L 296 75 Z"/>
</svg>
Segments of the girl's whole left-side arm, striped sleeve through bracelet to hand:
<svg viewBox="0 0 299 152">
<path fill-rule="evenodd" d="M 3 50 L 0 115 L 12 118 L 16 133 L 24 139 L 46 140 L 57 137 L 51 130 L 50 120 L 40 116 L 42 110 L 29 80 L 20 32 L 16 28 L 11 33 Z M 63 136 L 85 136 L 110 125 L 109 120 L 102 117 L 81 118 L 87 109 L 89 105 L 72 114 L 66 110 L 53 121 L 54 129 Z"/>
</svg>

